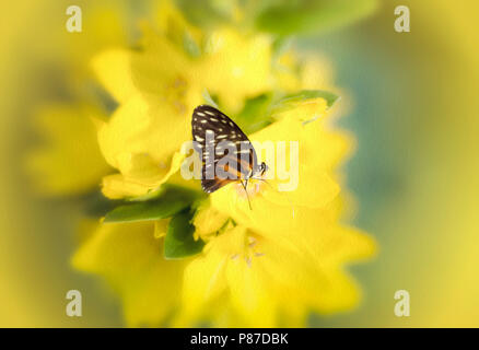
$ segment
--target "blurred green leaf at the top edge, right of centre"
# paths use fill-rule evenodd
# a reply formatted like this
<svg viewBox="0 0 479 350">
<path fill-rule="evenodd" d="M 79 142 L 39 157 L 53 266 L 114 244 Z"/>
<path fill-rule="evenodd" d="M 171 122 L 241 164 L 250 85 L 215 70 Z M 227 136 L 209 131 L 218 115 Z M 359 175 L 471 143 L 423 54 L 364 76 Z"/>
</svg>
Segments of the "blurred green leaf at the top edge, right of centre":
<svg viewBox="0 0 479 350">
<path fill-rule="evenodd" d="M 373 13 L 377 0 L 282 0 L 256 18 L 260 31 L 278 34 L 317 34 L 336 30 Z"/>
</svg>

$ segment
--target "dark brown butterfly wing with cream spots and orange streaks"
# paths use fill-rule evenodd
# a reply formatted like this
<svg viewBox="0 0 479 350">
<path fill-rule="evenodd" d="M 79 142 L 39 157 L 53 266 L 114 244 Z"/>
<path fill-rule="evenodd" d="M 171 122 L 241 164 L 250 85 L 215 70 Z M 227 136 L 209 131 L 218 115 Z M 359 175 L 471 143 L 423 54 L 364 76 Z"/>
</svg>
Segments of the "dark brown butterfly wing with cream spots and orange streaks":
<svg viewBox="0 0 479 350">
<path fill-rule="evenodd" d="M 225 114 L 209 105 L 196 107 L 191 117 L 191 131 L 192 139 L 196 141 L 195 150 L 201 156 L 201 186 L 206 192 L 211 194 L 232 182 L 247 178 L 250 175 L 257 161 L 256 152 L 246 135 Z M 211 142 L 215 150 L 213 154 L 207 151 L 207 132 L 213 135 Z M 214 164 L 217 167 L 218 161 L 223 156 L 221 149 L 217 152 L 218 144 L 223 140 L 234 144 L 235 148 L 235 152 L 224 155 L 230 164 L 234 165 L 233 170 L 229 170 L 226 165 L 223 171 L 234 174 L 236 179 L 220 178 L 217 174 L 213 178 L 207 178 L 207 166 L 210 166 L 208 164 Z"/>
</svg>

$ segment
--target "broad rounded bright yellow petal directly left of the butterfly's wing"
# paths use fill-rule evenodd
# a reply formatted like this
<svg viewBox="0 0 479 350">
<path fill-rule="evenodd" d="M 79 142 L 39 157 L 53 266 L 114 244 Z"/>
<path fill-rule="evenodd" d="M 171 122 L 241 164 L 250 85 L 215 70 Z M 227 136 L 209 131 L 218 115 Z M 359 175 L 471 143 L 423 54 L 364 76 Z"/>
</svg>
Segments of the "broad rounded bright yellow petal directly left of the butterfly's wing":
<svg viewBox="0 0 479 350">
<path fill-rule="evenodd" d="M 168 104 L 150 103 L 141 95 L 135 95 L 101 127 L 98 142 L 102 153 L 122 175 L 105 179 L 104 185 L 115 186 L 112 190 L 104 187 L 107 196 L 126 196 L 138 186 L 144 187 L 143 191 L 140 190 L 143 195 L 179 168 L 179 155 L 172 155 L 188 139 L 190 125 L 187 118 L 173 116 L 175 110 Z M 121 183 L 132 187 L 121 191 Z"/>
</svg>

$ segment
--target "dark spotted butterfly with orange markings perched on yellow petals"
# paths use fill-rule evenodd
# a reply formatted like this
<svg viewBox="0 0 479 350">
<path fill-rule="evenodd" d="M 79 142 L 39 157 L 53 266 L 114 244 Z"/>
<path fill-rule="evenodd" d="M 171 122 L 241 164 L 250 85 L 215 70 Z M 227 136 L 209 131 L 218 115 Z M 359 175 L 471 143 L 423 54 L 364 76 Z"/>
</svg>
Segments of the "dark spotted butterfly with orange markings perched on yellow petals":
<svg viewBox="0 0 479 350">
<path fill-rule="evenodd" d="M 217 108 L 209 105 L 196 107 L 191 131 L 194 148 L 201 156 L 201 187 L 207 194 L 241 182 L 247 195 L 248 180 L 261 177 L 267 171 L 265 162 L 258 164 L 247 136 Z"/>
</svg>

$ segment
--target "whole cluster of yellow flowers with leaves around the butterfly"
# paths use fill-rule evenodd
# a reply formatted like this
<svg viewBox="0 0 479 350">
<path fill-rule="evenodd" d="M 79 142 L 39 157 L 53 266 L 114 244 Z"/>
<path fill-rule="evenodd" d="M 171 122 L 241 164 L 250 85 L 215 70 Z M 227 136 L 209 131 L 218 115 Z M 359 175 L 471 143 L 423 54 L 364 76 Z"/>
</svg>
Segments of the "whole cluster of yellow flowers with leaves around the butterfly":
<svg viewBox="0 0 479 350">
<path fill-rule="evenodd" d="M 329 69 L 269 34 L 224 24 L 202 31 L 170 2 L 159 13 L 133 49 L 92 60 L 118 104 L 108 118 L 90 117 L 114 170 L 103 195 L 120 205 L 73 267 L 109 283 L 130 326 L 304 326 L 312 312 L 351 308 L 359 290 L 344 265 L 371 257 L 374 243 L 341 224 L 348 198 L 338 168 L 352 140 L 331 128 Z M 252 141 L 297 141 L 297 188 L 252 180 L 250 209 L 240 184 L 206 196 L 199 180 L 184 179 L 182 145 L 205 103 Z"/>
</svg>

